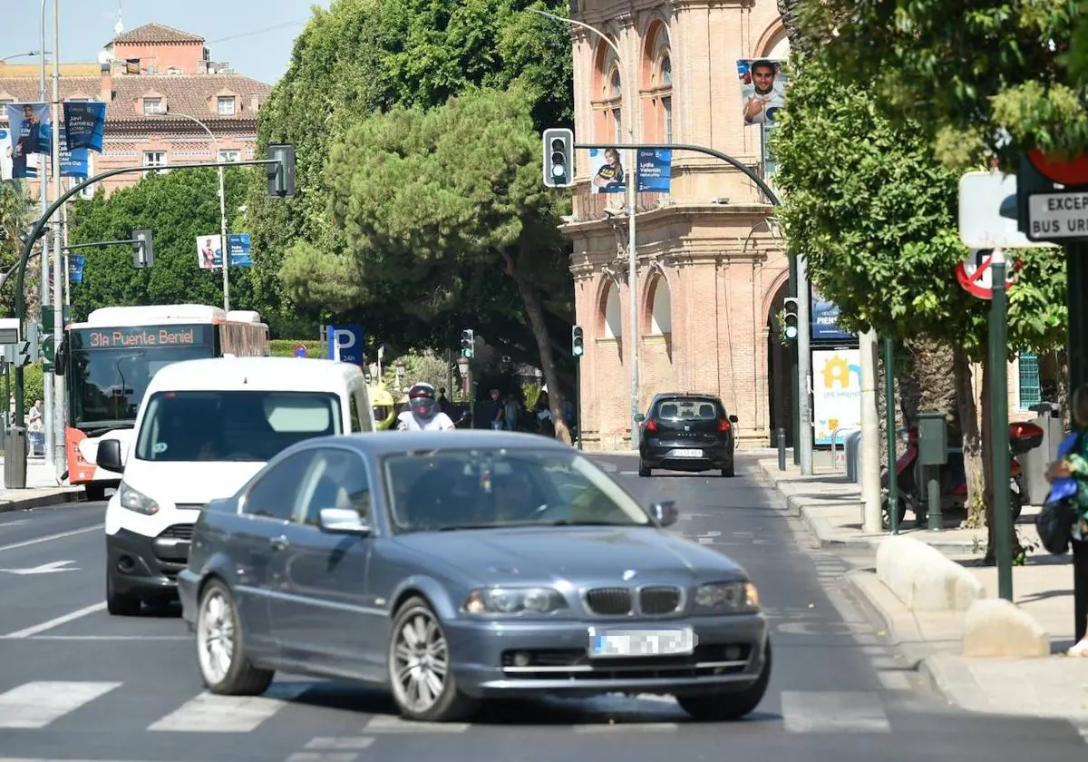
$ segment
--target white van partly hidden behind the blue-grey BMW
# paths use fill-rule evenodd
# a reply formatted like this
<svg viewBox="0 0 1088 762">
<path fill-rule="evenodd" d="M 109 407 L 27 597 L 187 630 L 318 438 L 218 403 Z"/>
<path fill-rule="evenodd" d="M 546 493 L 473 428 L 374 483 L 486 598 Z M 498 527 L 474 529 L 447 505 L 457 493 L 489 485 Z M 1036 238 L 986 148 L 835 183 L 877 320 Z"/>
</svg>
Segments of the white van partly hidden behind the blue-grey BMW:
<svg viewBox="0 0 1088 762">
<path fill-rule="evenodd" d="M 176 595 L 193 524 L 280 451 L 311 437 L 373 431 L 357 366 L 293 357 L 173 362 L 151 379 L 131 430 L 99 441 L 100 468 L 122 474 L 106 507 L 106 602 L 132 616 Z"/>
</svg>

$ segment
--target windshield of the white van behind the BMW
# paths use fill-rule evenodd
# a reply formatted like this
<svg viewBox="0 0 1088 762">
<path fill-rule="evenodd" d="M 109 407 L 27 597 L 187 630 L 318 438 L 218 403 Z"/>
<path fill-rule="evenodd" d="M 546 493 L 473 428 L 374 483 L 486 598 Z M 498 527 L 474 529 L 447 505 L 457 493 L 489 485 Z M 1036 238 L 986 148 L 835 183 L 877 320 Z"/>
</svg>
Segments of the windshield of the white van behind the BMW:
<svg viewBox="0 0 1088 762">
<path fill-rule="evenodd" d="M 159 392 L 136 458 L 267 463 L 296 442 L 342 433 L 341 420 L 339 400 L 323 392 Z"/>
</svg>

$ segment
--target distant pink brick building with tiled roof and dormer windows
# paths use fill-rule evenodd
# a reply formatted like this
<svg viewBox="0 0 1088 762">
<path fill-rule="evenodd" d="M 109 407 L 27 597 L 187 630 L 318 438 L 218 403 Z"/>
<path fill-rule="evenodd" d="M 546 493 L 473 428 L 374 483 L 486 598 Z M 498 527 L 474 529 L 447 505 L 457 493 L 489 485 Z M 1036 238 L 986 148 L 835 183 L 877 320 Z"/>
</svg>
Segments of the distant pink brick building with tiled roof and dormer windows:
<svg viewBox="0 0 1088 762">
<path fill-rule="evenodd" d="M 0 103 L 38 101 L 38 64 L 0 64 Z M 60 77 L 63 100 L 107 103 L 102 152 L 90 156 L 92 174 L 137 164 L 252 159 L 257 114 L 270 89 L 235 74 L 225 62 L 212 61 L 202 37 L 161 24 L 118 35 L 99 63 L 64 64 Z M 46 96 L 52 97 L 51 79 Z M 215 139 L 191 120 L 173 115 L 183 113 L 208 125 Z M 102 185 L 109 193 L 139 177 L 120 175 Z M 36 182 L 30 181 L 29 190 L 36 198 Z"/>
</svg>

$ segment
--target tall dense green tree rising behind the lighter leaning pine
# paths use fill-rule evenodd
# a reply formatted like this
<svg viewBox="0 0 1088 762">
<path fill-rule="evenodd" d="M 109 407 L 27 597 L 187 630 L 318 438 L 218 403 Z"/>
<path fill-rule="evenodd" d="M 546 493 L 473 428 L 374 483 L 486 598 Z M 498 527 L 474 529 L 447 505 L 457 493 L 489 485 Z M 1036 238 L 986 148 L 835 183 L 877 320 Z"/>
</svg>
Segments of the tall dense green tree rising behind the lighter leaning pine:
<svg viewBox="0 0 1088 762">
<path fill-rule="evenodd" d="M 262 303 L 279 305 L 285 315 L 304 307 L 293 290 L 281 286 L 284 255 L 294 249 L 294 271 L 284 275 L 298 282 L 299 272 L 309 269 L 322 293 L 321 299 L 306 300 L 309 312 L 335 314 L 400 344 L 449 345 L 460 328 L 472 325 L 496 340 L 508 337 L 504 352 L 530 359 L 532 333 L 512 283 L 468 266 L 444 270 L 442 279 L 458 281 L 456 300 L 435 283 L 436 297 L 421 311 L 373 283 L 366 293 L 344 291 L 343 284 L 358 278 L 351 258 L 337 263 L 324 256 L 344 255 L 349 246 L 329 217 L 324 168 L 331 146 L 358 121 L 398 105 L 440 106 L 466 88 L 484 86 L 526 93 L 537 130 L 570 123 L 569 33 L 521 12 L 530 5 L 566 10 L 558 0 L 337 0 L 329 11 L 314 11 L 295 42 L 290 67 L 261 111 L 259 142 L 292 143 L 298 161 L 298 195 L 286 204 L 268 199 L 263 177 L 254 177 L 248 213 L 260 255 L 254 281 Z M 319 261 L 335 271 L 326 273 Z M 332 276 L 322 280 L 326 274 Z M 556 287 L 545 303 L 547 321 L 560 333 L 569 330 L 573 299 L 566 262 L 548 279 Z"/>
</svg>

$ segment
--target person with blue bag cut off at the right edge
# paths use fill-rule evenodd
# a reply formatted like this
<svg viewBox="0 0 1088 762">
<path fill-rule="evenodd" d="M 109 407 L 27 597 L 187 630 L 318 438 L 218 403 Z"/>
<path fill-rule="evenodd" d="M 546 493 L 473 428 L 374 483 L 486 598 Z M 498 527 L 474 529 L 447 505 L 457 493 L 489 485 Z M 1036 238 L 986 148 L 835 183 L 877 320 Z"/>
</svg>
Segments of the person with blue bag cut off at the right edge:
<svg viewBox="0 0 1088 762">
<path fill-rule="evenodd" d="M 1088 384 L 1073 395 L 1074 433 L 1058 447 L 1050 465 L 1050 492 L 1036 519 L 1048 551 L 1062 555 L 1073 549 L 1074 639 L 1071 656 L 1088 656 Z"/>
</svg>

